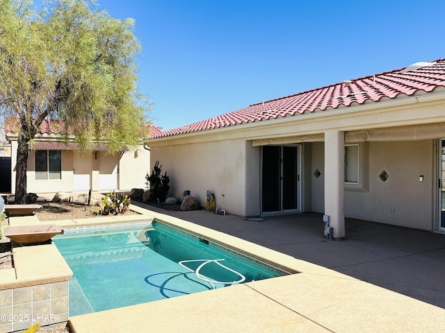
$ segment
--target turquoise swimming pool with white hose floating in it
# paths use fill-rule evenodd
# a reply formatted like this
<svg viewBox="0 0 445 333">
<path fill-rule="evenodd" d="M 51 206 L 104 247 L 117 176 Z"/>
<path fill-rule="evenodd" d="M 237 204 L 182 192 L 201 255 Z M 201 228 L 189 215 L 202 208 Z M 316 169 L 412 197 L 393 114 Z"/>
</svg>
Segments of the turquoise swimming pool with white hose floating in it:
<svg viewBox="0 0 445 333">
<path fill-rule="evenodd" d="M 289 274 L 158 221 L 67 228 L 53 241 L 73 271 L 70 316 Z"/>
</svg>

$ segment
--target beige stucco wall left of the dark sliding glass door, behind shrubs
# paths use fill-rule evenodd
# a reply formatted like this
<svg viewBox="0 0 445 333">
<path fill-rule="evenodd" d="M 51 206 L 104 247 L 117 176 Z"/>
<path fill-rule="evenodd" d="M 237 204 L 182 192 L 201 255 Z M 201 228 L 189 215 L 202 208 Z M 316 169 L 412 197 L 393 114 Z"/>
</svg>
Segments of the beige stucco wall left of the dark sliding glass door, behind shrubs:
<svg viewBox="0 0 445 333">
<path fill-rule="evenodd" d="M 162 173 L 167 171 L 170 176 L 168 196 L 182 200 L 184 191 L 189 190 L 205 207 L 209 189 L 215 195 L 218 210 L 244 216 L 245 212 L 250 214 L 254 205 L 256 210 L 252 214 L 258 214 L 259 148 L 250 144 L 246 149 L 246 146 L 249 145 L 243 139 L 227 139 L 152 147 L 152 156 L 156 156 L 152 158 L 152 167 L 159 160 Z M 246 177 L 250 179 L 248 188 Z M 247 208 L 246 200 L 254 204 Z"/>
</svg>

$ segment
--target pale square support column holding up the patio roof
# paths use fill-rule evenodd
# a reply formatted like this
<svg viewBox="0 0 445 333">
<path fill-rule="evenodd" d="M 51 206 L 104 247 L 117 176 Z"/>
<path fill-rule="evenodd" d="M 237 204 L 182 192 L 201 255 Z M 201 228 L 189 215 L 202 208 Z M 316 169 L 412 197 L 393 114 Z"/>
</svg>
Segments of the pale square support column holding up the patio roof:
<svg viewBox="0 0 445 333">
<path fill-rule="evenodd" d="M 334 239 L 345 237 L 345 133 L 325 132 L 325 215 L 329 216 Z"/>
</svg>

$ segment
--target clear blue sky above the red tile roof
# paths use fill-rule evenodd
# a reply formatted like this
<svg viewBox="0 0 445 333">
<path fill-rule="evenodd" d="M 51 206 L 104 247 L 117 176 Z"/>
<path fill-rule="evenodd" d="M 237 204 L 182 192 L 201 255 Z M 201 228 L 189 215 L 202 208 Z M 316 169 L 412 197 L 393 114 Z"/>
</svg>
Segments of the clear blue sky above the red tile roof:
<svg viewBox="0 0 445 333">
<path fill-rule="evenodd" d="M 445 57 L 445 1 L 99 0 L 136 20 L 139 88 L 164 130 Z"/>
</svg>

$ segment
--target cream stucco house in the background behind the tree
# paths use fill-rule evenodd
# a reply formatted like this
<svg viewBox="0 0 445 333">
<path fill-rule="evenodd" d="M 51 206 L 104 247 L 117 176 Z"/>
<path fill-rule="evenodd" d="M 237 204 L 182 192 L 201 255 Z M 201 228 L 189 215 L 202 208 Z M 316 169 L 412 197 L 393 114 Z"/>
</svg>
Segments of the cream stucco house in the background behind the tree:
<svg viewBox="0 0 445 333">
<path fill-rule="evenodd" d="M 150 170 L 150 153 L 141 142 L 136 151 L 123 149 L 108 153 L 106 142 L 95 142 L 88 151 L 81 151 L 71 141 L 60 138 L 56 123 L 44 119 L 29 152 L 27 191 L 34 193 L 129 191 L 145 187 L 145 175 Z M 17 129 L 14 122 L 6 125 L 6 139 L 11 144 L 11 193 L 15 192 L 15 164 L 17 161 Z M 150 126 L 150 133 L 159 130 Z"/>
</svg>

